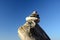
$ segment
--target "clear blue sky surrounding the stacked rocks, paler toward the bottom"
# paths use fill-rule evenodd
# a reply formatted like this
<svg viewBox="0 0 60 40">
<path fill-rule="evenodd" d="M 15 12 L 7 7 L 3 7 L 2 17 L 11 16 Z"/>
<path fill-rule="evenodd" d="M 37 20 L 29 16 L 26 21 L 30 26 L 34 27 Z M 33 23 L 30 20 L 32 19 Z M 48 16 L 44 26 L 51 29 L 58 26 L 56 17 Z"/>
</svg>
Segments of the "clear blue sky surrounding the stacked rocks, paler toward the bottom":
<svg viewBox="0 0 60 40">
<path fill-rule="evenodd" d="M 17 30 L 33 10 L 40 15 L 41 27 L 51 40 L 60 40 L 60 1 L 0 0 L 0 40 L 19 40 Z"/>
</svg>

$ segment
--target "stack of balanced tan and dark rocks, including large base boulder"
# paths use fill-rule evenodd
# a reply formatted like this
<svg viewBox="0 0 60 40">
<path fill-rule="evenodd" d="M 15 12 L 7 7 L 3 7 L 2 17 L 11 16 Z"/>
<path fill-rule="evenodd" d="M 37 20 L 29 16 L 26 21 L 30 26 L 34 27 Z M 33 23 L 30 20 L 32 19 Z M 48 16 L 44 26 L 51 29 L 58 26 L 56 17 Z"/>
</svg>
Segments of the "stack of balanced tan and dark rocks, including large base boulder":
<svg viewBox="0 0 60 40">
<path fill-rule="evenodd" d="M 36 11 L 26 17 L 26 23 L 18 28 L 21 40 L 50 40 L 44 30 L 38 25 L 40 21 Z"/>
</svg>

